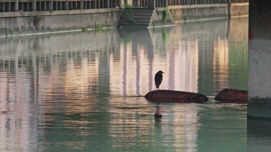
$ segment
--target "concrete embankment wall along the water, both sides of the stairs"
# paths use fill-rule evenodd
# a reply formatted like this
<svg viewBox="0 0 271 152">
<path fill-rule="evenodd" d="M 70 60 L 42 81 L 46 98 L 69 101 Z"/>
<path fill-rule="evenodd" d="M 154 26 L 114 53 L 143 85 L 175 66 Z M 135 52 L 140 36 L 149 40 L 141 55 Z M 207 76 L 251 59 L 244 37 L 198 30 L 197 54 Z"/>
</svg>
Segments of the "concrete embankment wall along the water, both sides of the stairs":
<svg viewBox="0 0 271 152">
<path fill-rule="evenodd" d="M 168 6 L 170 13 L 163 23 L 164 8 L 157 8 L 150 26 L 167 26 L 185 22 L 248 15 L 248 3 L 195 4 Z M 26 33 L 80 30 L 116 26 L 121 8 L 58 11 L 17 11 L 0 13 L 0 36 Z"/>
</svg>

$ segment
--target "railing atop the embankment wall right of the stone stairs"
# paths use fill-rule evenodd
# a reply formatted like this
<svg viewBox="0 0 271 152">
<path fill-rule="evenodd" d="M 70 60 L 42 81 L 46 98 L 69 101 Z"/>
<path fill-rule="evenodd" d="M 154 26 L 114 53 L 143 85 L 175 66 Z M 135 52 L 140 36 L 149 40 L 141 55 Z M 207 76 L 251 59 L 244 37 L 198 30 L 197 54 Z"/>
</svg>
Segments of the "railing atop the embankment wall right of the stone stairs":
<svg viewBox="0 0 271 152">
<path fill-rule="evenodd" d="M 242 2 L 248 2 L 248 0 L 156 0 L 156 7 L 167 7 L 167 5 L 225 4 Z"/>
</svg>

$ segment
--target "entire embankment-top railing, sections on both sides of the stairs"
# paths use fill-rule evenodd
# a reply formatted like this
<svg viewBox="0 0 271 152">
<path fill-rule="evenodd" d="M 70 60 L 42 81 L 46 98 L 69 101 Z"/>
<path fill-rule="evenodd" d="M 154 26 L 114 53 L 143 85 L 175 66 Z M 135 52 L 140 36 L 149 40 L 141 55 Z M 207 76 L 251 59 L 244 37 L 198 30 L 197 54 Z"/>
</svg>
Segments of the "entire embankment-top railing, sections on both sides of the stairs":
<svg viewBox="0 0 271 152">
<path fill-rule="evenodd" d="M 134 0 L 135 1 L 135 0 Z M 133 3 L 134 3 L 133 1 Z M 155 0 L 156 7 L 194 4 L 242 3 L 248 0 Z M 138 6 L 148 5 L 148 0 L 136 0 Z M 113 8 L 120 6 L 120 0 L 1 0 L 0 12 L 54 11 Z"/>
</svg>

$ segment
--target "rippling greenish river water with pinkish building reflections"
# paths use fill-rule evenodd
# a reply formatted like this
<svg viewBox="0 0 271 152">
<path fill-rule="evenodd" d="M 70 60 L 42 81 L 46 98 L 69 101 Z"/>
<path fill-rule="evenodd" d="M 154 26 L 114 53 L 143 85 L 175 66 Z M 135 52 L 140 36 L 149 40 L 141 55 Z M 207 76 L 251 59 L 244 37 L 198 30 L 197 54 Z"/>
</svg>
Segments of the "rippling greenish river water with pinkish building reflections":
<svg viewBox="0 0 271 152">
<path fill-rule="evenodd" d="M 246 105 L 141 95 L 247 89 L 247 21 L 0 39 L 0 151 L 246 150 Z"/>
</svg>

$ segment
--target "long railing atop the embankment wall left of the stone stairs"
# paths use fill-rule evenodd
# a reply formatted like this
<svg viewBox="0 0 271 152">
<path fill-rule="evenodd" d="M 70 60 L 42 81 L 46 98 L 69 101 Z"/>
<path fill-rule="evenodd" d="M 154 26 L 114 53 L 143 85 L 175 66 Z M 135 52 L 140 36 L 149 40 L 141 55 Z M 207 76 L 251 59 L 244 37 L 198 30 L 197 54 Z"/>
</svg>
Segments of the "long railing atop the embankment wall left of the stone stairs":
<svg viewBox="0 0 271 152">
<path fill-rule="evenodd" d="M 112 8 L 117 5 L 120 0 L 1 0 L 0 12 Z"/>
</svg>

